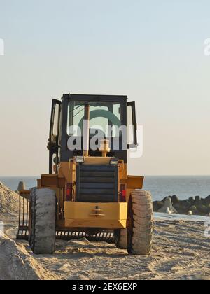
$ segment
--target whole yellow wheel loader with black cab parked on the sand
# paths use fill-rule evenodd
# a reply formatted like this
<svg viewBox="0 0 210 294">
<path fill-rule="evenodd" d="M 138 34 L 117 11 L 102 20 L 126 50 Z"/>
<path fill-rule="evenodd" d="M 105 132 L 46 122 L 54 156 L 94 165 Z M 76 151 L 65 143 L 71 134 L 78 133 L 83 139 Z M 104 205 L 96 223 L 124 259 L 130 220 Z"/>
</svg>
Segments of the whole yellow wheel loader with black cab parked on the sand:
<svg viewBox="0 0 210 294">
<path fill-rule="evenodd" d="M 153 204 L 144 176 L 127 174 L 138 148 L 135 102 L 127 96 L 64 94 L 52 100 L 49 174 L 20 190 L 17 239 L 35 254 L 53 254 L 56 240 L 115 243 L 149 255 Z"/>
</svg>

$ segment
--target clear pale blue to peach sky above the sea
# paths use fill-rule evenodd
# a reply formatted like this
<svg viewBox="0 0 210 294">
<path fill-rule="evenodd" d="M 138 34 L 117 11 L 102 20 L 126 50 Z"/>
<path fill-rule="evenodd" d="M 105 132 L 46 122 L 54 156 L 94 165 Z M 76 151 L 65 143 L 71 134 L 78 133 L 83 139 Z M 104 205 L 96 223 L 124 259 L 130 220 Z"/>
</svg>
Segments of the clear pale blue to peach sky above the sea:
<svg viewBox="0 0 210 294">
<path fill-rule="evenodd" d="M 131 174 L 210 174 L 209 0 L 0 0 L 0 176 L 48 172 L 52 98 L 127 94 Z"/>
</svg>

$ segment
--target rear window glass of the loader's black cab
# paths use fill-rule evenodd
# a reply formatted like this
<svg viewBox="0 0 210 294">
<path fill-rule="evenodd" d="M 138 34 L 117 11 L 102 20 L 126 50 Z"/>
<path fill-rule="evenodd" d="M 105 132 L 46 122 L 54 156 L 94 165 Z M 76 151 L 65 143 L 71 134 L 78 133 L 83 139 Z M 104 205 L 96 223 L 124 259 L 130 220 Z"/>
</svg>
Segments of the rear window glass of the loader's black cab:
<svg viewBox="0 0 210 294">
<path fill-rule="evenodd" d="M 103 132 L 105 137 L 118 137 L 116 130 L 122 125 L 122 109 L 119 102 L 69 102 L 67 134 L 83 134 L 85 104 L 90 105 L 90 135 Z"/>
</svg>

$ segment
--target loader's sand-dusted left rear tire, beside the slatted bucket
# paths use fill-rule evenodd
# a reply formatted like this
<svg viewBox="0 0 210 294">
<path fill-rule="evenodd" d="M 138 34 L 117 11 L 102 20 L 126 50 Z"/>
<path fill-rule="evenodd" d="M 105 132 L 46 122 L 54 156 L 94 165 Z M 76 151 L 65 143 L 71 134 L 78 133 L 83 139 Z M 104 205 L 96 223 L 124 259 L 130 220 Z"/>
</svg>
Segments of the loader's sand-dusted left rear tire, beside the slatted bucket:
<svg viewBox="0 0 210 294">
<path fill-rule="evenodd" d="M 33 188 L 29 223 L 29 244 L 33 253 L 55 253 L 55 218 L 55 191 Z"/>
</svg>

